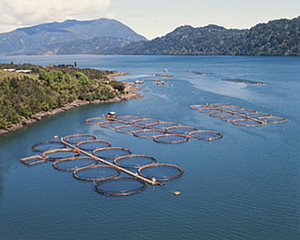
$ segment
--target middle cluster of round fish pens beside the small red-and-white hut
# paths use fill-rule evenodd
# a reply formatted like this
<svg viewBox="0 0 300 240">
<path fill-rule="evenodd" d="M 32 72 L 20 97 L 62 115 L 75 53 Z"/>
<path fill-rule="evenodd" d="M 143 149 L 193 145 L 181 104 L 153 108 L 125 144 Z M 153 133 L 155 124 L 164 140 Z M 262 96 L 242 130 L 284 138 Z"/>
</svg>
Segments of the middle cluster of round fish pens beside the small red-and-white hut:
<svg viewBox="0 0 300 240">
<path fill-rule="evenodd" d="M 114 129 L 116 132 L 128 133 L 139 138 L 149 138 L 157 143 L 183 143 L 189 139 L 212 141 L 223 136 L 216 131 L 198 130 L 192 126 L 183 126 L 175 122 L 163 122 L 136 115 L 125 115 L 117 118 L 94 117 L 85 120 L 85 123 Z"/>
</svg>

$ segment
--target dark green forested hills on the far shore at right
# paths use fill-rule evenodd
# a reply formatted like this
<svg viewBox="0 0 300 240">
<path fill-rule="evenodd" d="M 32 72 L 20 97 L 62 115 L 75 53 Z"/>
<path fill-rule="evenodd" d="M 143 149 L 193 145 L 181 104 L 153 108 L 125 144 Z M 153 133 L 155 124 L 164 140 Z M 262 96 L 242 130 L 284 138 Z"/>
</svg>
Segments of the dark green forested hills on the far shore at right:
<svg viewBox="0 0 300 240">
<path fill-rule="evenodd" d="M 134 42 L 99 53 L 300 56 L 300 16 L 242 30 L 217 25 L 197 28 L 185 25 L 151 41 Z"/>
</svg>

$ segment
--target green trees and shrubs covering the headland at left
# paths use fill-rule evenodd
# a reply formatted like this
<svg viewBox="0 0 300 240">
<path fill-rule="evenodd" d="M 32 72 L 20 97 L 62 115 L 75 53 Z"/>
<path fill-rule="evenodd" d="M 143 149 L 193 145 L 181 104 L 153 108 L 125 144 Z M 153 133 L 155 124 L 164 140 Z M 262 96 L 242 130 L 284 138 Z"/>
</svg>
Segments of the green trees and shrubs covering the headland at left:
<svg viewBox="0 0 300 240">
<path fill-rule="evenodd" d="M 31 70 L 31 73 L 4 69 Z M 123 93 L 125 84 L 109 79 L 110 74 L 116 72 L 71 65 L 0 64 L 0 129 L 75 100 L 114 98 Z"/>
</svg>

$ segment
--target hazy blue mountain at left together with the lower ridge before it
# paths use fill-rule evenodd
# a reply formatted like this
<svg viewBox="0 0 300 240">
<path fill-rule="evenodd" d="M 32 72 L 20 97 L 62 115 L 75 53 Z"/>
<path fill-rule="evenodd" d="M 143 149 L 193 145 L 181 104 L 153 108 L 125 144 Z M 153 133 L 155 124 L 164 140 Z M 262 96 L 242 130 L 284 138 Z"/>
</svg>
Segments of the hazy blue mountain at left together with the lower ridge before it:
<svg viewBox="0 0 300 240">
<path fill-rule="evenodd" d="M 117 20 L 66 20 L 0 34 L 0 54 L 94 53 L 139 40 L 146 38 Z"/>
</svg>

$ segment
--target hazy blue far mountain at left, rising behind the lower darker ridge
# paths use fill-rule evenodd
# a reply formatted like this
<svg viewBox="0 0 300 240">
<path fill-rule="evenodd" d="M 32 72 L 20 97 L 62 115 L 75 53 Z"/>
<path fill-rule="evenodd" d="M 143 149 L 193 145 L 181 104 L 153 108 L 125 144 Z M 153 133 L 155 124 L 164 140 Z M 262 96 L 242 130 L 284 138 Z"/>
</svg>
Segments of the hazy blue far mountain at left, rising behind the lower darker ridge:
<svg viewBox="0 0 300 240">
<path fill-rule="evenodd" d="M 117 20 L 106 18 L 91 21 L 66 20 L 61 23 L 52 22 L 19 28 L 0 34 L 0 54 L 43 52 L 43 49 L 49 45 L 101 37 L 119 38 L 117 42 L 124 39 L 122 44 L 146 40 Z M 114 47 L 116 46 L 119 45 Z"/>
</svg>

